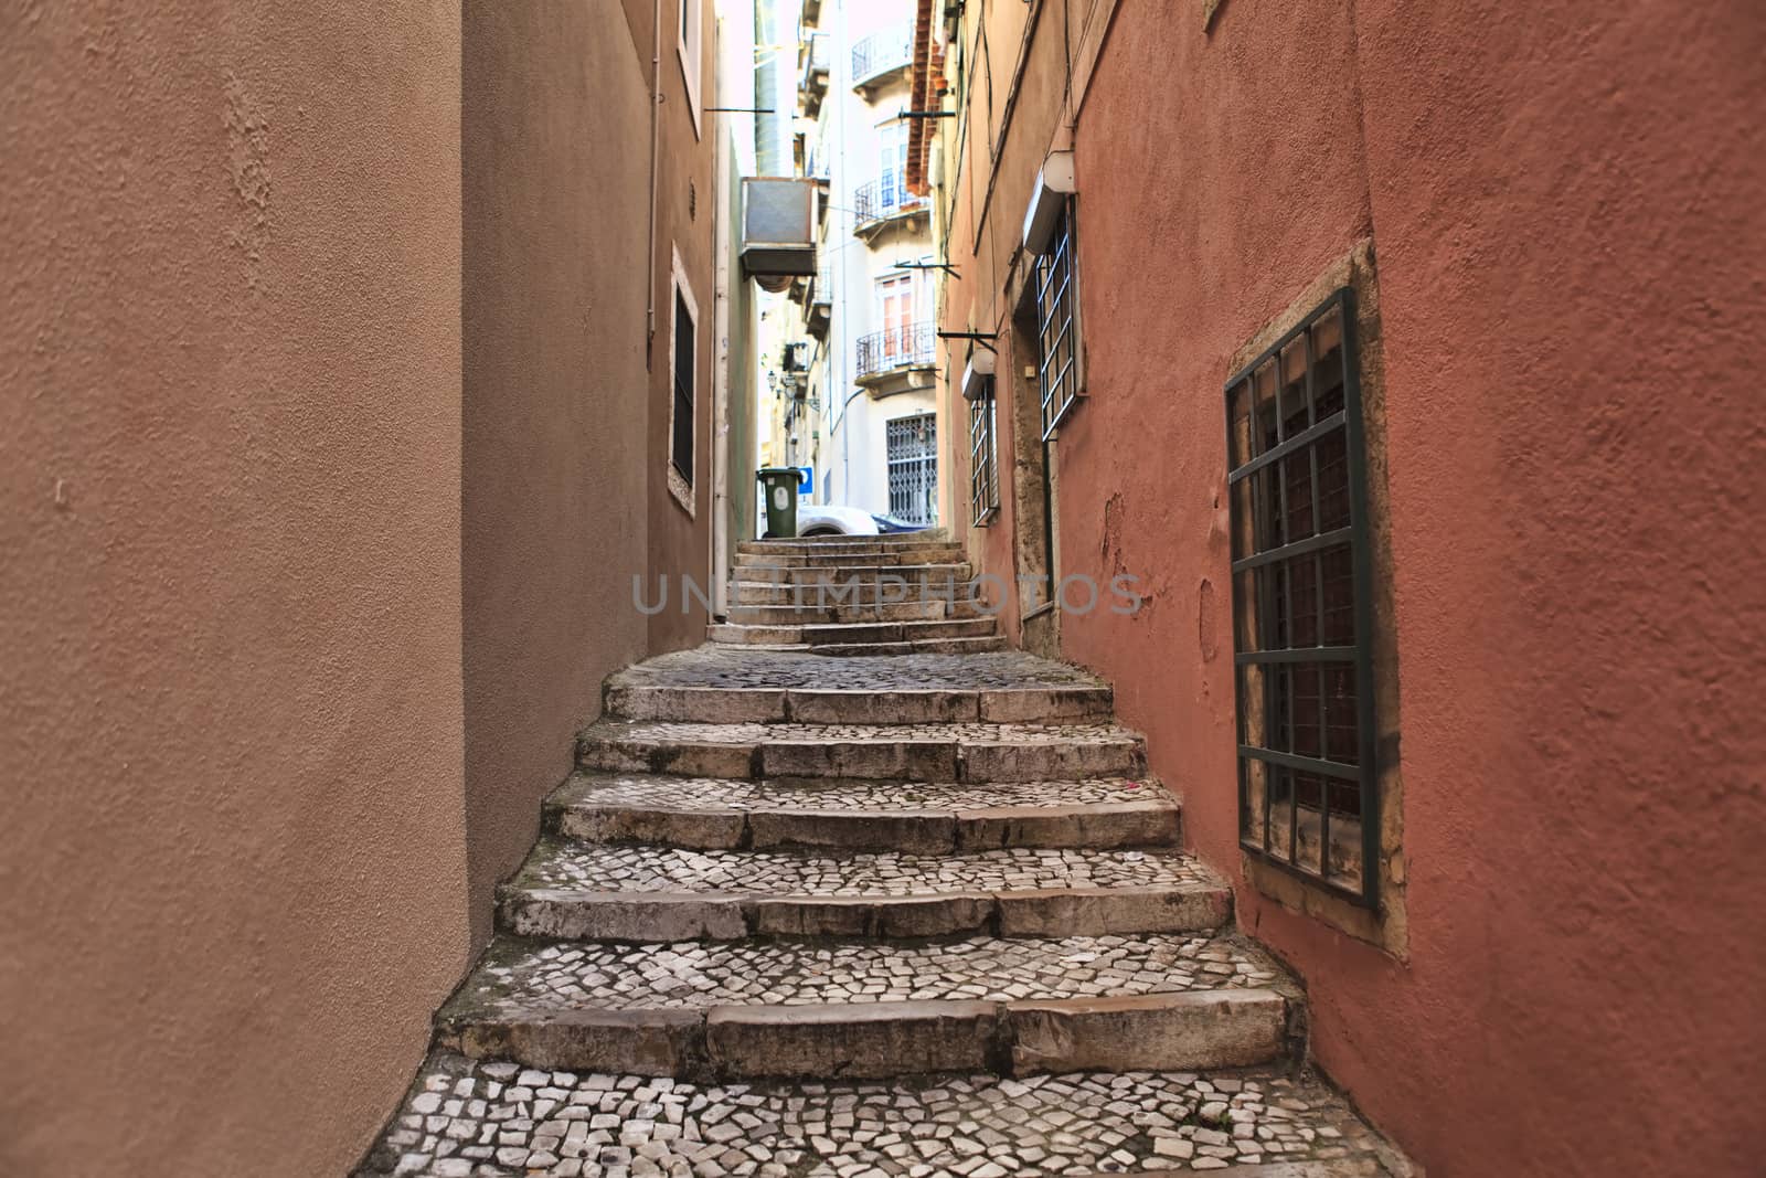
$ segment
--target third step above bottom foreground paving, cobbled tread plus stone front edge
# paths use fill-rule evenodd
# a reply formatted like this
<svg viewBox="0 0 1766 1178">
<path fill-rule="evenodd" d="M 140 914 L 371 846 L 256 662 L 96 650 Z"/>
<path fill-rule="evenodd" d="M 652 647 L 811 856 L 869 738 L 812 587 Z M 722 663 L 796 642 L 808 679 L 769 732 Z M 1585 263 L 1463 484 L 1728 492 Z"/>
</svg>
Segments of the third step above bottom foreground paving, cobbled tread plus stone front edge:
<svg viewBox="0 0 1766 1178">
<path fill-rule="evenodd" d="M 1181 844 L 1178 800 L 1155 781 L 729 781 L 576 774 L 546 830 L 586 842 L 691 850 L 950 855 L 1001 848 Z"/>
</svg>

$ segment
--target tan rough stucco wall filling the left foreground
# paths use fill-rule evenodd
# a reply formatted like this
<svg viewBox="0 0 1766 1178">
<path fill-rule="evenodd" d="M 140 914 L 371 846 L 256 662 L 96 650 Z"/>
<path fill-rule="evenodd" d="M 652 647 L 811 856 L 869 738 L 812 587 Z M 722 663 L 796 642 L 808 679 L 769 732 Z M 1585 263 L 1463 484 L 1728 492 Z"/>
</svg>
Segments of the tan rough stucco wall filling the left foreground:
<svg viewBox="0 0 1766 1178">
<path fill-rule="evenodd" d="M 464 964 L 457 71 L 0 12 L 0 1173 L 341 1173 Z"/>
</svg>

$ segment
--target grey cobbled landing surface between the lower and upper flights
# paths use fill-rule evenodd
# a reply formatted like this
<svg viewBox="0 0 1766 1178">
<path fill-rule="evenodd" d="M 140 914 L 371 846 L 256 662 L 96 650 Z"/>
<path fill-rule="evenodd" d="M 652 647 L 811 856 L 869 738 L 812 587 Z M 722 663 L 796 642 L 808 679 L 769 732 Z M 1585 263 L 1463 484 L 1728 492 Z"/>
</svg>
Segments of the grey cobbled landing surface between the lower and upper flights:
<svg viewBox="0 0 1766 1178">
<path fill-rule="evenodd" d="M 821 691 L 994 691 L 1012 687 L 1102 687 L 1067 666 L 996 650 L 971 655 L 881 655 L 828 661 L 788 650 L 743 650 L 708 643 L 620 671 L 618 687 L 784 687 Z"/>
</svg>

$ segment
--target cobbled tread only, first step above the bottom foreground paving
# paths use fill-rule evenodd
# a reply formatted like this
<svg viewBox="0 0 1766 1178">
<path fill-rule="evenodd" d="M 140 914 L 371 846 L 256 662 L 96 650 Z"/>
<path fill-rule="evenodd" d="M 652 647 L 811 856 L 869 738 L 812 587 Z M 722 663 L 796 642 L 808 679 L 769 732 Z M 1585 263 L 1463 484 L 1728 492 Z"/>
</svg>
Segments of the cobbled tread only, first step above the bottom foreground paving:
<svg viewBox="0 0 1766 1178">
<path fill-rule="evenodd" d="M 1280 970 L 1233 938 L 971 938 L 938 945 L 502 941 L 450 1007 L 705 1008 L 918 1000 L 1017 1001 L 1266 987 Z"/>
</svg>

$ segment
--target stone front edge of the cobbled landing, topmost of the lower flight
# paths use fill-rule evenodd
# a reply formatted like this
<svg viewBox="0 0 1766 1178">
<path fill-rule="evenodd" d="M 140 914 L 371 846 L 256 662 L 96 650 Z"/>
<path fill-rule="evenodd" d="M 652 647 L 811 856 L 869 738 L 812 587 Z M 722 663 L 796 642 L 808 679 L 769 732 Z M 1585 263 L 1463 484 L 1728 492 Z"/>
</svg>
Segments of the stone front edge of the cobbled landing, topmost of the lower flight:
<svg viewBox="0 0 1766 1178">
<path fill-rule="evenodd" d="M 823 662 L 812 659 L 812 662 Z M 865 664 L 834 664 L 834 669 Z M 1098 682 L 1038 683 L 1000 680 L 992 685 L 920 685 L 911 676 L 791 676 L 802 685 L 717 685 L 710 676 L 622 673 L 602 687 L 602 714 L 620 721 L 687 721 L 703 724 L 920 724 L 989 721 L 1054 724 L 1111 717 L 1113 692 Z M 839 685 L 842 680 L 849 687 Z M 895 682 L 899 685 L 887 685 Z"/>
</svg>

